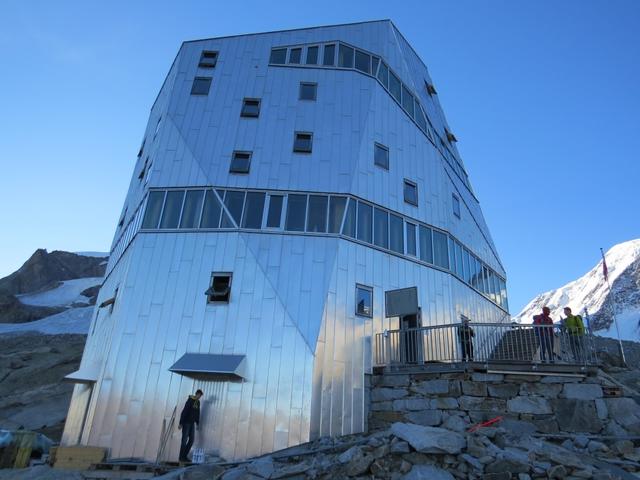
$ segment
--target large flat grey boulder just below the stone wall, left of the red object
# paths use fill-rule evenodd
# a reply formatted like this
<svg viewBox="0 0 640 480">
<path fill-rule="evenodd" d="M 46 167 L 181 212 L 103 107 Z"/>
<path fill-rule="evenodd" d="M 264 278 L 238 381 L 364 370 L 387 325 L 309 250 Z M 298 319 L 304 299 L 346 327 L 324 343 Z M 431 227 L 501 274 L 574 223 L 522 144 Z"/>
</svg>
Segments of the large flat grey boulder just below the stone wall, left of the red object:
<svg viewBox="0 0 640 480">
<path fill-rule="evenodd" d="M 457 454 L 467 445 L 462 435 L 444 428 L 396 422 L 391 425 L 391 433 L 423 453 Z"/>
</svg>

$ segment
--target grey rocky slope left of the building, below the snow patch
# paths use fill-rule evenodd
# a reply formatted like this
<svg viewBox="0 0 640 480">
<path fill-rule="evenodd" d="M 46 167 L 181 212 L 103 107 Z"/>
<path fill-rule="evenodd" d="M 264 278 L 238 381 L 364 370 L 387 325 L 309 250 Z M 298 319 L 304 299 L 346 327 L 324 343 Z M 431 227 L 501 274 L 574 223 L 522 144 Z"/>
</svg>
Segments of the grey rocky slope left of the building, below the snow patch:
<svg viewBox="0 0 640 480">
<path fill-rule="evenodd" d="M 25 428 L 58 442 L 85 335 L 23 333 L 0 336 L 0 428 Z"/>
</svg>

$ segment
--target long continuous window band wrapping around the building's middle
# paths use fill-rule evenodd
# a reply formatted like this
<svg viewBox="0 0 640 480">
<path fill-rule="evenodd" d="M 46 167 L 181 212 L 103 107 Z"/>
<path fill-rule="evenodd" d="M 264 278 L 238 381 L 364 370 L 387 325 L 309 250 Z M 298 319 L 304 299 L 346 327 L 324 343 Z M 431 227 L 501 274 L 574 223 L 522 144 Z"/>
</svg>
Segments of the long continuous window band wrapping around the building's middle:
<svg viewBox="0 0 640 480">
<path fill-rule="evenodd" d="M 152 190 L 142 229 L 251 229 L 344 235 L 449 270 L 507 309 L 506 284 L 446 232 L 346 195 Z"/>
</svg>

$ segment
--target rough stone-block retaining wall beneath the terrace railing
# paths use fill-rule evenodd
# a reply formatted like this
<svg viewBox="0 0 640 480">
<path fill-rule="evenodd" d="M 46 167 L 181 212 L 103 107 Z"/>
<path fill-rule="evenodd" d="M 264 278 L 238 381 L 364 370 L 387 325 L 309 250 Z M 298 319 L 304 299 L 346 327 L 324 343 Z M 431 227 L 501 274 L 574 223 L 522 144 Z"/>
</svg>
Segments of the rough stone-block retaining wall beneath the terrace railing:
<svg viewBox="0 0 640 480">
<path fill-rule="evenodd" d="M 384 374 L 371 378 L 369 429 L 393 422 L 465 431 L 498 416 L 519 433 L 640 434 L 632 398 L 605 398 L 603 378 L 493 373 Z"/>
</svg>

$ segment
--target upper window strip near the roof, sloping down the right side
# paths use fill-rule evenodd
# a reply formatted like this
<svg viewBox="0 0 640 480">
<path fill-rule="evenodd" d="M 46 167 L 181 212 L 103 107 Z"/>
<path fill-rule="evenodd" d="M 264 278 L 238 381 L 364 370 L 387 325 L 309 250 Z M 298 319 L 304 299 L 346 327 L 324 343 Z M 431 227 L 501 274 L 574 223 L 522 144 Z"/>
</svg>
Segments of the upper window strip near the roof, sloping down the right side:
<svg viewBox="0 0 640 480">
<path fill-rule="evenodd" d="M 322 55 L 320 56 L 320 48 Z M 303 55 L 303 53 L 305 55 Z M 469 178 L 466 171 L 451 153 L 447 144 L 437 135 L 431 125 L 425 111 L 423 110 L 417 95 L 400 80 L 387 63 L 376 55 L 369 54 L 345 43 L 327 43 L 323 45 L 299 45 L 293 47 L 275 47 L 271 49 L 269 57 L 271 65 L 293 65 L 311 67 L 339 67 L 358 70 L 364 74 L 371 75 L 389 92 L 398 102 L 404 111 L 415 121 L 418 127 L 425 133 L 431 143 L 433 143 L 449 165 L 460 177 L 463 183 L 471 190 Z M 425 80 L 425 91 L 428 95 L 435 95 L 435 87 Z M 445 137 L 448 143 L 456 142 L 455 136 L 445 129 Z M 438 141 L 436 141 L 438 139 Z"/>
</svg>

